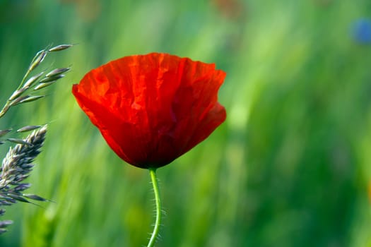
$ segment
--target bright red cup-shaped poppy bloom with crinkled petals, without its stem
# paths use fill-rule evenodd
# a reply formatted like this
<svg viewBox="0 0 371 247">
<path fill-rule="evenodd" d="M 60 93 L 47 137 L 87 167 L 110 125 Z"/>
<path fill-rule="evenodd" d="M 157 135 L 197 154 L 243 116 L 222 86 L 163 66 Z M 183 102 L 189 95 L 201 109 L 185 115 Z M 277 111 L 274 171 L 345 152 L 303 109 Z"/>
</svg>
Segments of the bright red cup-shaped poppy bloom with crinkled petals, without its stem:
<svg viewBox="0 0 371 247">
<path fill-rule="evenodd" d="M 218 90 L 224 78 L 215 64 L 151 53 L 95 68 L 72 92 L 119 157 L 158 168 L 223 123 Z"/>
</svg>

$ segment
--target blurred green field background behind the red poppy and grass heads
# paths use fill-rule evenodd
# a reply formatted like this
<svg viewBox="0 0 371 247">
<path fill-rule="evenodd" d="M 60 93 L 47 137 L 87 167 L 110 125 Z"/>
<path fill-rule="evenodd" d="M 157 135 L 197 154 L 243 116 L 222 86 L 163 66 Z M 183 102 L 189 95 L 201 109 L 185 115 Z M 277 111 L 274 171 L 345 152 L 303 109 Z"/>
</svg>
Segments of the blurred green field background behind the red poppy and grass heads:
<svg viewBox="0 0 371 247">
<path fill-rule="evenodd" d="M 371 246 L 371 2 L 331 0 L 0 0 L 0 100 L 34 54 L 73 71 L 0 128 L 52 121 L 0 246 L 145 246 L 154 222 L 146 170 L 124 164 L 71 86 L 130 54 L 168 52 L 227 72 L 228 119 L 158 170 L 157 246 Z M 5 155 L 6 147 L 0 147 Z"/>
</svg>

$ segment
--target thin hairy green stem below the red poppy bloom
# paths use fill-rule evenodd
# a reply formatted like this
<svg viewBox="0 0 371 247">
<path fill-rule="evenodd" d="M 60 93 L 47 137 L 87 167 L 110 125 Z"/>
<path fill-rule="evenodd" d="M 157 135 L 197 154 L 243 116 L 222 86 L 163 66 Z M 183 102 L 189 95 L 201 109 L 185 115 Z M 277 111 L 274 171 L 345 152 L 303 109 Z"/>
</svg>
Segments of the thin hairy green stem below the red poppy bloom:
<svg viewBox="0 0 371 247">
<path fill-rule="evenodd" d="M 158 188 L 158 181 L 156 176 L 156 169 L 149 168 L 149 174 L 151 175 L 151 181 L 153 185 L 153 191 L 155 191 L 155 203 L 156 203 L 156 220 L 155 220 L 155 227 L 153 228 L 153 232 L 151 235 L 151 239 L 148 242 L 147 247 L 155 246 L 155 241 L 158 238 L 158 234 L 160 233 L 160 225 L 161 225 L 161 198 L 160 198 L 160 189 Z"/>
</svg>

